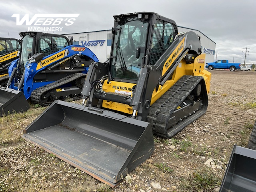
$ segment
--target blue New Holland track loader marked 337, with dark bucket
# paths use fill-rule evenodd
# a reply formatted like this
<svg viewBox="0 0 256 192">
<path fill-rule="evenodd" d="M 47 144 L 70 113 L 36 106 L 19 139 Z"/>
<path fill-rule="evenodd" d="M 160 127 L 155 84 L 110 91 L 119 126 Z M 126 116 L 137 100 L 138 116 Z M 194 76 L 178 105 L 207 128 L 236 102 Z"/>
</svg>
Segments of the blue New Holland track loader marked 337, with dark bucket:
<svg viewBox="0 0 256 192">
<path fill-rule="evenodd" d="M 28 110 L 28 99 L 47 106 L 54 100 L 82 98 L 88 66 L 98 61 L 95 54 L 62 35 L 21 32 L 20 36 L 20 59 L 10 64 L 6 88 L 0 88 L 0 115 Z"/>
</svg>

